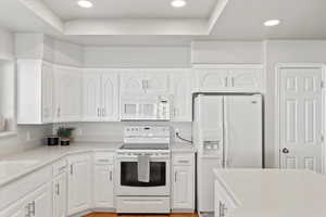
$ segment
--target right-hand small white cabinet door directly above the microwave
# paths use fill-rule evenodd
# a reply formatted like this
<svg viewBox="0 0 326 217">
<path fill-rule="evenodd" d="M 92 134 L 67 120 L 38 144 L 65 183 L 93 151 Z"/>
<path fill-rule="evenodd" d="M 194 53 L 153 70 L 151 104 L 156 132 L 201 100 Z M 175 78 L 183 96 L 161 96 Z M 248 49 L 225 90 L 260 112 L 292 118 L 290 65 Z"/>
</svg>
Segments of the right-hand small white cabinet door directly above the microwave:
<svg viewBox="0 0 326 217">
<path fill-rule="evenodd" d="M 167 93 L 168 74 L 166 72 L 148 72 L 145 75 L 147 93 Z"/>
</svg>

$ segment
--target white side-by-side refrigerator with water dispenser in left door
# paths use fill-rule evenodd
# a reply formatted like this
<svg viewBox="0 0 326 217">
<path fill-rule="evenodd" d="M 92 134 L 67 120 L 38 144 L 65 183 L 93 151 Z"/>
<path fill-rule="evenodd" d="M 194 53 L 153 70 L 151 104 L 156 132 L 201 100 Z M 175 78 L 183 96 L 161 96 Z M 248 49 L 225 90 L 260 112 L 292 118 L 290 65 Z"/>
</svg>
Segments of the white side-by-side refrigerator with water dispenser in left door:
<svg viewBox="0 0 326 217">
<path fill-rule="evenodd" d="M 198 149 L 198 212 L 214 210 L 213 168 L 263 167 L 261 94 L 199 94 L 193 139 Z"/>
</svg>

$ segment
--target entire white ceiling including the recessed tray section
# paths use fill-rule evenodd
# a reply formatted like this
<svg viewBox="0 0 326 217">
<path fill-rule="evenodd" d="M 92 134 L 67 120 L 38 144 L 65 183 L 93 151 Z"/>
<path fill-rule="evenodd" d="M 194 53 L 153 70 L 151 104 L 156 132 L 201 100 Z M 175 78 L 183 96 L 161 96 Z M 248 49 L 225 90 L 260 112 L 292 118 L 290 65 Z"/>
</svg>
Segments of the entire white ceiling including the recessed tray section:
<svg viewBox="0 0 326 217">
<path fill-rule="evenodd" d="M 75 0 L 1 0 L 0 26 L 90 46 L 326 39 L 326 0 L 188 0 L 184 9 L 170 0 L 91 1 L 86 10 Z M 281 24 L 265 27 L 269 18 Z"/>
</svg>

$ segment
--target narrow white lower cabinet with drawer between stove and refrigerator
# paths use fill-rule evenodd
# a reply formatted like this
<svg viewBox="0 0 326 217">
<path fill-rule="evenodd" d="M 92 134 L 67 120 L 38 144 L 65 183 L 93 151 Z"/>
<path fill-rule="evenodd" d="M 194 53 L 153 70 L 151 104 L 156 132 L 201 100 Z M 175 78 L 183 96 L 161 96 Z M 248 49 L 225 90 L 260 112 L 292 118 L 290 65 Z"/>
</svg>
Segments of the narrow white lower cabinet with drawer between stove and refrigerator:
<svg viewBox="0 0 326 217">
<path fill-rule="evenodd" d="M 173 212 L 195 210 L 195 154 L 173 154 Z"/>
</svg>

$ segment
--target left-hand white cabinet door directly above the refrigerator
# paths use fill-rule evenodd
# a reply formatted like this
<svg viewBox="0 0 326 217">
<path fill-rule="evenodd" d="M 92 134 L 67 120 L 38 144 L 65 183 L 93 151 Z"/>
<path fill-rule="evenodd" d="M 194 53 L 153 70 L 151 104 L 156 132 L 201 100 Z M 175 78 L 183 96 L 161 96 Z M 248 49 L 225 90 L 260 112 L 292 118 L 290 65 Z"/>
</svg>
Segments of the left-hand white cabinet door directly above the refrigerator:
<svg viewBox="0 0 326 217">
<path fill-rule="evenodd" d="M 197 89 L 201 92 L 225 91 L 228 89 L 227 69 L 199 69 L 197 74 Z"/>
</svg>

